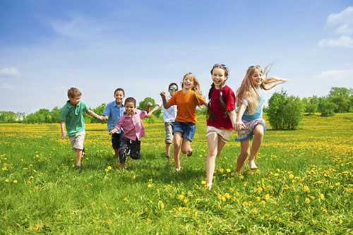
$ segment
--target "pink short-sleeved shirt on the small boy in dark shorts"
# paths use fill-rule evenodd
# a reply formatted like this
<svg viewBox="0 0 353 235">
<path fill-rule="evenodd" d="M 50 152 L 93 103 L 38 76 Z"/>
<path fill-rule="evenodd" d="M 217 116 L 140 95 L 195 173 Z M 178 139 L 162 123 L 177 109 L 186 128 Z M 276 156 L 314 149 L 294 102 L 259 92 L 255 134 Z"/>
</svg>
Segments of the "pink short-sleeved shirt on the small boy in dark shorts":
<svg viewBox="0 0 353 235">
<path fill-rule="evenodd" d="M 130 140 L 140 140 L 145 135 L 145 128 L 143 127 L 142 119 L 147 117 L 145 110 L 135 109 L 133 116 L 127 116 L 124 114 L 115 128 L 122 128 L 124 131 L 124 137 Z"/>
</svg>

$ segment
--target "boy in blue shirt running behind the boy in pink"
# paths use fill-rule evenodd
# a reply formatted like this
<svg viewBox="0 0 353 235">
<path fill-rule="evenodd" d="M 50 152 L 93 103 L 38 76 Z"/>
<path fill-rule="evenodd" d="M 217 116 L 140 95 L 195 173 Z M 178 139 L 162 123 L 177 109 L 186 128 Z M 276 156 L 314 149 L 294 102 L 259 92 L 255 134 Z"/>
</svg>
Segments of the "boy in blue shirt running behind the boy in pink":
<svg viewBox="0 0 353 235">
<path fill-rule="evenodd" d="M 105 107 L 103 116 L 105 119 L 108 119 L 108 131 L 112 131 L 116 123 L 119 122 L 121 117 L 124 114 L 125 107 L 123 104 L 125 96 L 125 91 L 122 88 L 117 88 L 114 91 L 114 98 L 113 102 L 107 104 Z M 119 132 L 112 134 L 112 147 L 114 149 L 115 158 L 119 159 L 119 148 L 121 145 L 121 138 L 123 136 L 123 132 L 119 130 Z"/>
</svg>

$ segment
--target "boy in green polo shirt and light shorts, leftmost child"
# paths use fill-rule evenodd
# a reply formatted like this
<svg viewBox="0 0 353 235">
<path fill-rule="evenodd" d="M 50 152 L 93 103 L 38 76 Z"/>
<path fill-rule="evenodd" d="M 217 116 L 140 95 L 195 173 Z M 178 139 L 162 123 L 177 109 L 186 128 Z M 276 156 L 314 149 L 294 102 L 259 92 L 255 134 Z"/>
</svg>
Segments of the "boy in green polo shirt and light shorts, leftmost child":
<svg viewBox="0 0 353 235">
<path fill-rule="evenodd" d="M 66 126 L 67 135 L 70 139 L 71 147 L 76 152 L 76 167 L 75 169 L 81 170 L 81 161 L 83 155 L 85 155 L 85 147 L 83 143 L 85 141 L 85 113 L 90 116 L 105 121 L 104 116 L 95 114 L 85 102 L 81 101 L 82 93 L 77 88 L 70 88 L 67 92 L 68 101 L 61 109 L 60 115 L 60 128 L 61 136 L 66 136 L 64 126 Z"/>
</svg>

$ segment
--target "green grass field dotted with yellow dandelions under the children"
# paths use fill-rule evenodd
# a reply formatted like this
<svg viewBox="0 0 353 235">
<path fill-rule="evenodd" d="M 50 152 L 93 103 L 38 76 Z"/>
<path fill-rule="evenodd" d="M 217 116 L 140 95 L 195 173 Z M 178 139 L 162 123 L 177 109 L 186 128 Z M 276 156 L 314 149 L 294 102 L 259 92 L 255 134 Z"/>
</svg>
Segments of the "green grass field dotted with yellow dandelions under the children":
<svg viewBox="0 0 353 235">
<path fill-rule="evenodd" d="M 162 157 L 161 121 L 145 125 L 142 159 L 128 159 L 127 170 L 116 169 L 106 125 L 87 125 L 80 173 L 59 124 L 0 124 L 0 234 L 352 234 L 353 114 L 269 128 L 259 169 L 246 164 L 242 175 L 230 141 L 212 191 L 198 118 L 179 174 Z"/>
</svg>

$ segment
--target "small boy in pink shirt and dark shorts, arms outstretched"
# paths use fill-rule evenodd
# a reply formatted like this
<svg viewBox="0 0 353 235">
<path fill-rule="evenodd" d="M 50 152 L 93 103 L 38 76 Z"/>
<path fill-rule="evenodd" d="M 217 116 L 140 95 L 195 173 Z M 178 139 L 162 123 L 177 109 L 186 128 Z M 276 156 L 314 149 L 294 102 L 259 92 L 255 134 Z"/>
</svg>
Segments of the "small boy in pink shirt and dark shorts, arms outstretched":
<svg viewBox="0 0 353 235">
<path fill-rule="evenodd" d="M 156 107 L 150 112 L 136 109 L 136 100 L 133 97 L 126 98 L 124 106 L 124 116 L 121 117 L 116 126 L 110 131 L 111 134 L 117 133 L 120 128 L 124 131 L 119 149 L 119 162 L 120 167 L 123 169 L 125 168 L 126 157 L 128 155 L 132 159 L 140 159 L 141 138 L 145 135 L 142 119 L 150 117 L 157 110 Z M 147 110 L 149 109 L 150 103 L 147 106 Z"/>
</svg>

